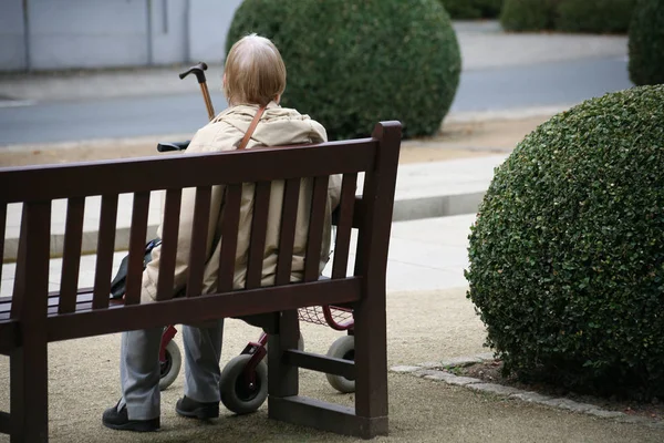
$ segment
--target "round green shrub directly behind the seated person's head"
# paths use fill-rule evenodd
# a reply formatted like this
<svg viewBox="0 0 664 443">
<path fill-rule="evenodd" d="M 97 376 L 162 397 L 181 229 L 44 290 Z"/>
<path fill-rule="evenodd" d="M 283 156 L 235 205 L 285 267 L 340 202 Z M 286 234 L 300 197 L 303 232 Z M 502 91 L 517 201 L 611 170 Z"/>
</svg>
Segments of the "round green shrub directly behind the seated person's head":
<svg viewBox="0 0 664 443">
<path fill-rule="evenodd" d="M 246 0 L 228 45 L 256 32 L 288 70 L 284 106 L 320 121 L 330 138 L 365 136 L 400 120 L 405 136 L 436 133 L 461 61 L 438 0 Z"/>
</svg>

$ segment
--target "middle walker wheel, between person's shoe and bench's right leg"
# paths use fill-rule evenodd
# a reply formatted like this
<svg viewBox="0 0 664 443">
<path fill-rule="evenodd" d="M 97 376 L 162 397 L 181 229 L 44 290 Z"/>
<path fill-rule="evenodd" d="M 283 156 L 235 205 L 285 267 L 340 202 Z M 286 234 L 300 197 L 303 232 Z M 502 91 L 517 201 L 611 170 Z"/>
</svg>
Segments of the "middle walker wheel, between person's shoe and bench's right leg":
<svg viewBox="0 0 664 443">
<path fill-rule="evenodd" d="M 249 384 L 243 371 L 250 359 L 250 354 L 238 356 L 230 360 L 221 371 L 219 381 L 221 402 L 236 414 L 255 412 L 268 398 L 268 365 L 264 361 L 258 363 L 255 381 Z"/>
</svg>

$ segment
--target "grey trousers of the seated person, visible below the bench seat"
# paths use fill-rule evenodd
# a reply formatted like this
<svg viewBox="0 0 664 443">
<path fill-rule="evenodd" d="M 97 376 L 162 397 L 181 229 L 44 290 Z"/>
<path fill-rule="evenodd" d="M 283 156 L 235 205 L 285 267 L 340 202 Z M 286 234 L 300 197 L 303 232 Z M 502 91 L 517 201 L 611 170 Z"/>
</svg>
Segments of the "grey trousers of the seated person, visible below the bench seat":
<svg viewBox="0 0 664 443">
<path fill-rule="evenodd" d="M 159 416 L 159 346 L 162 328 L 122 333 L 120 378 L 129 420 Z M 224 320 L 210 328 L 183 326 L 185 395 L 198 402 L 219 401 L 219 359 Z"/>
</svg>

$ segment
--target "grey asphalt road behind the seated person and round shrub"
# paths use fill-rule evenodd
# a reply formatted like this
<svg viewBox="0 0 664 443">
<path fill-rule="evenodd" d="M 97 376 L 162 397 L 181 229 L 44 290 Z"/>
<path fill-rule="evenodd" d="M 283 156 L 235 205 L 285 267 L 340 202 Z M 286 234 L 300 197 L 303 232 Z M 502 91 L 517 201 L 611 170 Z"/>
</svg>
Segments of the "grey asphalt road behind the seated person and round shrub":
<svg viewBox="0 0 664 443">
<path fill-rule="evenodd" d="M 631 87 L 627 62 L 591 59 L 465 71 L 453 112 L 571 105 Z M 212 93 L 215 109 L 227 106 Z M 315 115 L 312 114 L 313 117 Z M 193 133 L 207 121 L 199 93 L 1 107 L 0 148 L 20 143 Z"/>
</svg>

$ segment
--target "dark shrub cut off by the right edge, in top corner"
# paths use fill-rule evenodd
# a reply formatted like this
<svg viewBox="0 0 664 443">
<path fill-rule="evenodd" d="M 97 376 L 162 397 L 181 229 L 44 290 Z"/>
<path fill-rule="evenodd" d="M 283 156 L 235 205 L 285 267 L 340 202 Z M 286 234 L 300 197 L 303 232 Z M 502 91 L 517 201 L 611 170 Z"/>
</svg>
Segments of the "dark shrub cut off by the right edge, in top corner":
<svg viewBox="0 0 664 443">
<path fill-rule="evenodd" d="M 640 0 L 630 25 L 630 78 L 635 84 L 664 83 L 664 2 Z"/>
</svg>

